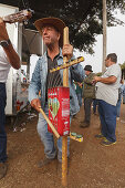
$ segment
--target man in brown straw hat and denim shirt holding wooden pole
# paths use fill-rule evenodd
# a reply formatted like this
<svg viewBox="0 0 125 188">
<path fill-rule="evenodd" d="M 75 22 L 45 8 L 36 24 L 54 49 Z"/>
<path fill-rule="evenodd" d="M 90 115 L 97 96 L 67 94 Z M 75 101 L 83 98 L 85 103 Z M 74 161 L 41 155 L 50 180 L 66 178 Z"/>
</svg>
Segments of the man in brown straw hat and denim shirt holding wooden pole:
<svg viewBox="0 0 125 188">
<path fill-rule="evenodd" d="M 50 73 L 50 70 L 56 65 L 63 64 L 63 55 L 69 55 L 73 59 L 73 48 L 71 44 L 65 44 L 63 46 L 63 29 L 65 28 L 65 23 L 62 20 L 58 18 L 43 18 L 37 20 L 34 25 L 42 35 L 43 42 L 46 45 L 46 52 L 37 62 L 29 87 L 29 101 L 31 102 L 31 106 L 38 112 L 39 106 L 42 106 L 43 111 L 48 115 L 48 88 L 62 86 L 63 83 L 63 70 L 56 71 L 54 73 Z M 63 49 L 61 49 L 62 46 Z M 76 82 L 82 82 L 83 76 L 83 69 L 80 64 L 69 69 L 71 116 L 75 115 L 80 109 L 73 80 Z M 41 98 L 38 96 L 40 91 Z M 59 161 L 62 161 L 62 139 L 58 139 L 56 153 L 53 135 L 48 132 L 48 123 L 42 114 L 39 114 L 38 133 L 44 145 L 45 154 L 45 158 L 39 163 L 39 167 L 52 161 L 56 154 Z M 67 156 L 69 155 L 70 154 L 67 149 Z"/>
</svg>

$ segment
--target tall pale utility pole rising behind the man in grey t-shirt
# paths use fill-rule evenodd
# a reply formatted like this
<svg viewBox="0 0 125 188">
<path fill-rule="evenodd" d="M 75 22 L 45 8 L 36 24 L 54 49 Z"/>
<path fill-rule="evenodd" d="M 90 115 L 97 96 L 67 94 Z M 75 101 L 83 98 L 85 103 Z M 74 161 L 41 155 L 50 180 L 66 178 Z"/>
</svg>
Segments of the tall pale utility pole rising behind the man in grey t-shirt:
<svg viewBox="0 0 125 188">
<path fill-rule="evenodd" d="M 103 0 L 103 63 L 102 63 L 102 72 L 105 71 L 105 59 L 106 59 L 106 23 L 107 23 L 107 17 L 106 17 L 106 0 Z"/>
</svg>

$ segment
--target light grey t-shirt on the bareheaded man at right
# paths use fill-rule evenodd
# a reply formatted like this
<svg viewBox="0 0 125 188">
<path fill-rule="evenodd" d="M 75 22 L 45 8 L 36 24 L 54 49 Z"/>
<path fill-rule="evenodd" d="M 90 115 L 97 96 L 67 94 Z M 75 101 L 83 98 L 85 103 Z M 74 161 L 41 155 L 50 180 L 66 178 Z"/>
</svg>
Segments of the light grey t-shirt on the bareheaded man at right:
<svg viewBox="0 0 125 188">
<path fill-rule="evenodd" d="M 106 103 L 116 106 L 118 100 L 118 87 L 121 82 L 121 66 L 113 64 L 107 67 L 102 77 L 115 76 L 116 82 L 113 84 L 104 84 L 102 82 L 96 83 L 96 98 L 103 100 Z"/>
</svg>

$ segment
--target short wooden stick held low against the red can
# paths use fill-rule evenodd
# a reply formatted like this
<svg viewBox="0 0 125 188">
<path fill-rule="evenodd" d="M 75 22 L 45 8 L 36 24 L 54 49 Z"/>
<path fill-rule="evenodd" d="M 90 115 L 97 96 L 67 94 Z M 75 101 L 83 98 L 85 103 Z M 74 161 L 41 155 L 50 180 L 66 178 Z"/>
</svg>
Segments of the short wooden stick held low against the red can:
<svg viewBox="0 0 125 188">
<path fill-rule="evenodd" d="M 43 115 L 43 117 L 45 118 L 46 123 L 49 124 L 49 126 L 51 127 L 52 132 L 54 133 L 54 135 L 56 136 L 56 138 L 60 138 L 59 133 L 56 132 L 55 127 L 52 125 L 51 121 L 49 119 L 49 117 L 45 115 L 45 113 L 43 112 L 43 109 L 40 107 L 40 113 Z"/>
</svg>

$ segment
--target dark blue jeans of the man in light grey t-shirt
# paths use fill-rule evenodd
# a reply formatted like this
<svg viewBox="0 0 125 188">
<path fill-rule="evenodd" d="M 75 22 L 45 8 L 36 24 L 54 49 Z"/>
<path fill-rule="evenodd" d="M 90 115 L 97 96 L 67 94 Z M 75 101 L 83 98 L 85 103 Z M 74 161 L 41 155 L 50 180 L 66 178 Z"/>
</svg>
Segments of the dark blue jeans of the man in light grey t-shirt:
<svg viewBox="0 0 125 188">
<path fill-rule="evenodd" d="M 102 124 L 102 134 L 110 142 L 116 142 L 116 106 L 98 100 L 98 114 Z"/>
</svg>

